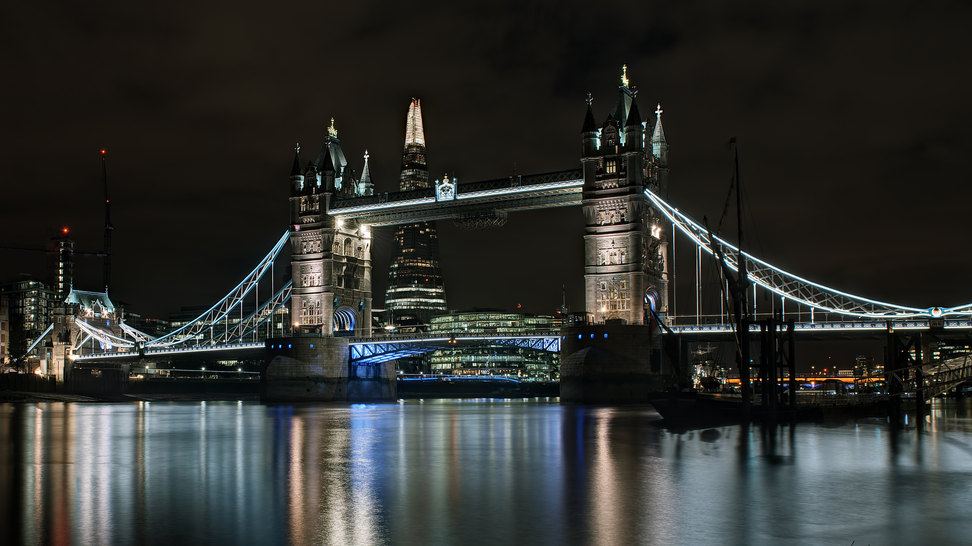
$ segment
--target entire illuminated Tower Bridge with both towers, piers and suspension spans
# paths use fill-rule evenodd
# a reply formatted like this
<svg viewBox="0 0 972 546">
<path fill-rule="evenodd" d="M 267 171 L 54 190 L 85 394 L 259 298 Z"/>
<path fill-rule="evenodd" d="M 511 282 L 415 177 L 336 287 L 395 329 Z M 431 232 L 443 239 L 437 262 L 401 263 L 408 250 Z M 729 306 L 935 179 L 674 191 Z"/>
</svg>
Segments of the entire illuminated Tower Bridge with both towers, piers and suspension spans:
<svg viewBox="0 0 972 546">
<path fill-rule="evenodd" d="M 153 336 L 115 317 L 107 294 L 88 294 L 87 304 L 79 299 L 74 307 L 67 305 L 59 311 L 55 324 L 30 349 L 42 342 L 52 345 L 55 363 L 51 369 L 59 379 L 64 379 L 74 365 L 217 353 L 265 355 L 267 377 L 277 378 L 281 385 L 287 383 L 281 396 L 336 399 L 350 395 L 348 381 L 356 377 L 364 382 L 362 385 L 372 382 L 372 387 L 364 390 L 370 392 L 368 395 L 387 396 L 388 383 L 394 382 L 388 365 L 396 359 L 454 344 L 486 343 L 560 352 L 562 378 L 573 377 L 562 384 L 566 399 L 595 400 L 622 383 L 647 392 L 677 381 L 684 365 L 664 350 L 663 331 L 682 344 L 732 339 L 734 332 L 733 324 L 675 324 L 671 242 L 676 233 L 691 241 L 700 256 L 722 255 L 728 271 L 738 274 L 745 263 L 745 278 L 752 290 L 779 298 L 779 328 L 792 331 L 796 337 L 880 339 L 893 331 L 901 335 L 965 336 L 972 332 L 972 304 L 916 308 L 835 290 L 741 252 L 724 238 L 712 235 L 669 199 L 668 141 L 662 112 L 659 105 L 653 120 L 642 120 L 635 93 L 624 77 L 603 123 L 595 121 L 588 99 L 580 132 L 579 166 L 461 183 L 449 176 L 440 180 L 429 177 L 421 112 L 418 101 L 413 100 L 400 190 L 377 194 L 370 180 L 368 154 L 364 154 L 359 179 L 348 166 L 332 120 L 316 161 L 304 166 L 299 147 L 295 152 L 290 176 L 291 224 L 286 233 L 255 269 L 209 310 L 171 333 Z M 405 248 L 410 244 L 406 239 L 421 240 L 435 248 L 436 221 L 484 228 L 502 225 L 510 212 L 564 206 L 579 206 L 586 221 L 585 307 L 578 323 L 537 335 L 374 335 L 371 229 L 399 226 L 402 235 L 396 253 L 405 256 L 414 253 L 414 249 Z M 267 274 L 272 279 L 274 260 L 288 242 L 291 279 L 279 289 L 271 289 L 269 297 L 244 316 L 243 301 L 260 299 L 260 280 Z M 427 299 L 428 305 L 415 303 L 413 311 L 420 314 L 444 309 L 444 289 L 440 280 L 434 279 L 437 250 L 431 253 L 401 259 L 401 269 L 390 283 L 386 301 Z M 425 284 L 418 282 L 418 277 Z M 393 290 L 405 290 L 409 295 L 399 297 Z M 787 304 L 791 322 L 786 320 Z M 284 311 L 288 312 L 289 324 L 274 324 L 274 317 Z M 746 314 L 750 311 L 754 318 L 754 309 L 746 310 Z M 794 313 L 802 318 L 808 311 L 810 322 L 792 320 Z M 816 321 L 815 312 L 838 320 Z M 756 331 L 759 326 L 749 327 Z M 293 329 L 293 335 L 284 335 L 286 329 Z M 311 381 L 314 374 L 344 377 L 345 383 L 329 379 L 300 387 L 299 382 L 292 381 L 300 376 Z M 304 392 L 308 394 L 304 396 Z"/>
</svg>

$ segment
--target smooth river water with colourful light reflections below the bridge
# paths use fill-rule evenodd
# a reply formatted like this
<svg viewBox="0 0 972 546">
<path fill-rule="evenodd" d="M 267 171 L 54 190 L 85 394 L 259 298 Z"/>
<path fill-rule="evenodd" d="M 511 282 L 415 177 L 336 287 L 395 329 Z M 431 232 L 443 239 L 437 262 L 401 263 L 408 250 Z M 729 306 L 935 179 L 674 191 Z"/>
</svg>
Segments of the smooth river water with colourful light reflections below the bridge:
<svg viewBox="0 0 972 546">
<path fill-rule="evenodd" d="M 972 400 L 676 431 L 554 401 L 0 405 L 9 544 L 968 544 Z M 914 420 L 911 421 L 914 425 Z"/>
</svg>

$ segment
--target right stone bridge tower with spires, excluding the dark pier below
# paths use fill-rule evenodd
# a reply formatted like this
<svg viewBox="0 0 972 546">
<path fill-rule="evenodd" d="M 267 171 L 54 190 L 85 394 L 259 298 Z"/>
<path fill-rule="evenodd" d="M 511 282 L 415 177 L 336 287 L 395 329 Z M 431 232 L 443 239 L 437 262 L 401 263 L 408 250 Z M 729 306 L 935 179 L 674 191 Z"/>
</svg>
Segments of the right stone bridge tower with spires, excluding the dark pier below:
<svg viewBox="0 0 972 546">
<path fill-rule="evenodd" d="M 588 99 L 581 129 L 585 300 L 595 323 L 647 324 L 649 307 L 670 314 L 669 233 L 644 196 L 650 189 L 667 197 L 668 143 L 661 109 L 652 131 L 636 94 L 625 73 L 608 119 L 598 126 Z"/>
</svg>

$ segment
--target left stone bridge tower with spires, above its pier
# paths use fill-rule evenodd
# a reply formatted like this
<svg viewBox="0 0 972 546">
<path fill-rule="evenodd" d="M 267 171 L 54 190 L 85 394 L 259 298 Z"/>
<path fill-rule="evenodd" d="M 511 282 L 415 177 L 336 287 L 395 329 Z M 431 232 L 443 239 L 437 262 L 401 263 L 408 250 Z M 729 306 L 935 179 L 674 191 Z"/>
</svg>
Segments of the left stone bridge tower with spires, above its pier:
<svg viewBox="0 0 972 546">
<path fill-rule="evenodd" d="M 364 154 L 357 180 L 331 119 L 317 161 L 291 171 L 291 322 L 295 331 L 371 335 L 371 233 L 366 225 L 331 219 L 331 201 L 371 193 Z"/>
</svg>

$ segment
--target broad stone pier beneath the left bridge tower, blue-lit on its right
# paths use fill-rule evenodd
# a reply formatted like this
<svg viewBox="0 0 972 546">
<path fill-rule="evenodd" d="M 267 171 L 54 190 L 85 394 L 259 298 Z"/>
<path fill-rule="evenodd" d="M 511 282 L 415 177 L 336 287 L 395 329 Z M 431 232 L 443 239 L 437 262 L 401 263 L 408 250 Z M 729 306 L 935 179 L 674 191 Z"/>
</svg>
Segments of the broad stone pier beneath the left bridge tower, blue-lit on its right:
<svg viewBox="0 0 972 546">
<path fill-rule="evenodd" d="M 266 341 L 260 373 L 263 402 L 396 399 L 394 362 L 350 365 L 343 337 L 279 337 Z"/>
</svg>

